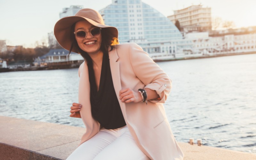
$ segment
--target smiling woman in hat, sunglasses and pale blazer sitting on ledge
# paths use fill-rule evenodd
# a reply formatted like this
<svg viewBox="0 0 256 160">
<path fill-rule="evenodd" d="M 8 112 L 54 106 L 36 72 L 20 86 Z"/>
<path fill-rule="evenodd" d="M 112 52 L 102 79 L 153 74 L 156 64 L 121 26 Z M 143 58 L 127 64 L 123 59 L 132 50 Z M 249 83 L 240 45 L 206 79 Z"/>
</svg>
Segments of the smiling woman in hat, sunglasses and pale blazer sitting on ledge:
<svg viewBox="0 0 256 160">
<path fill-rule="evenodd" d="M 163 107 L 171 81 L 140 46 L 118 44 L 117 29 L 92 9 L 60 19 L 54 34 L 85 59 L 70 116 L 86 132 L 68 160 L 183 159 Z"/>
</svg>

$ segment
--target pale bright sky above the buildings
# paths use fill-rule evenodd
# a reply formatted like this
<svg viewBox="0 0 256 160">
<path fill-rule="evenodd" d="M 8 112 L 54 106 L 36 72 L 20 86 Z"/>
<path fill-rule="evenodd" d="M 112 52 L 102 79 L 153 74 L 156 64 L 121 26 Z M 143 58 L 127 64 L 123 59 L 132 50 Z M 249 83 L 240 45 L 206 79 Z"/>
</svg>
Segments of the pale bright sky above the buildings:
<svg viewBox="0 0 256 160">
<path fill-rule="evenodd" d="M 164 16 L 174 10 L 201 4 L 212 8 L 212 17 L 234 21 L 237 28 L 256 26 L 256 0 L 142 0 Z M 0 0 L 0 40 L 6 45 L 34 47 L 48 38 L 59 13 L 71 5 L 99 11 L 112 0 Z"/>
</svg>

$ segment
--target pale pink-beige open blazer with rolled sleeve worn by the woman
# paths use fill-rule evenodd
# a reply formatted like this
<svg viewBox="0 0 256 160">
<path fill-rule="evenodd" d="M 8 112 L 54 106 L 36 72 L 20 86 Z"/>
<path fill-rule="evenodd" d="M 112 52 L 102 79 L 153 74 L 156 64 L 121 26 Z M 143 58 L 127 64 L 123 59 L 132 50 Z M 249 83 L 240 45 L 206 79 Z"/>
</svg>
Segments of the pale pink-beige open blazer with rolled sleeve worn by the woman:
<svg viewBox="0 0 256 160">
<path fill-rule="evenodd" d="M 124 120 L 139 148 L 154 160 L 180 160 L 183 153 L 178 146 L 169 122 L 163 103 L 171 90 L 171 80 L 164 71 L 135 43 L 118 44 L 109 52 L 110 69 L 116 96 L 119 100 L 119 91 L 131 88 L 137 91 L 140 88 L 155 90 L 160 99 L 143 102 L 119 104 Z M 90 83 L 86 62 L 79 67 L 79 103 L 86 132 L 81 143 L 90 139 L 100 130 L 100 124 L 92 118 L 90 103 Z"/>
</svg>

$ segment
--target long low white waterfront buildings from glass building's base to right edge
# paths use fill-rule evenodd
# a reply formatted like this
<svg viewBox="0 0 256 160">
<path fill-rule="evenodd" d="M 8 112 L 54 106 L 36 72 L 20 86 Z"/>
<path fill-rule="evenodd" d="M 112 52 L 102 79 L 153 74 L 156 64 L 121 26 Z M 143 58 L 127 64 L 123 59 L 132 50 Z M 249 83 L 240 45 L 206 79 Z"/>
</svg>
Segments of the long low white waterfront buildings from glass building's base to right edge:
<svg viewBox="0 0 256 160">
<path fill-rule="evenodd" d="M 165 43 L 140 44 L 153 60 L 256 53 L 256 32 L 209 36 L 208 32 L 188 33 L 184 39 Z"/>
</svg>

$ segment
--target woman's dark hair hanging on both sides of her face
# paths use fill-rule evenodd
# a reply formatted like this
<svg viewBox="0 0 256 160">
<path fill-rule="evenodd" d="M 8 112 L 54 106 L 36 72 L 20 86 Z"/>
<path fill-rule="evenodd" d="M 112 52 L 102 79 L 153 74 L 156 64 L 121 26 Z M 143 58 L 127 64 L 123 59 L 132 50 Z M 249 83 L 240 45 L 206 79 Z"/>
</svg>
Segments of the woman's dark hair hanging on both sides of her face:
<svg viewBox="0 0 256 160">
<path fill-rule="evenodd" d="M 81 56 L 87 61 L 87 64 L 91 64 L 92 63 L 92 59 L 91 57 L 88 55 L 87 52 L 84 52 L 77 44 L 76 41 L 76 37 L 74 34 L 74 30 L 75 30 L 75 25 L 76 23 L 74 23 L 71 26 L 71 33 L 70 33 L 70 39 L 72 41 L 70 50 L 68 55 L 71 53 L 73 47 L 78 49 L 78 53 L 81 54 Z M 100 44 L 100 50 L 103 52 L 103 54 L 108 54 L 108 47 L 110 47 L 109 51 L 112 51 L 114 48 L 114 45 L 119 44 L 118 42 L 118 38 L 117 37 L 113 37 L 110 32 L 108 32 L 108 28 L 102 28 L 101 29 L 101 44 Z"/>
</svg>

